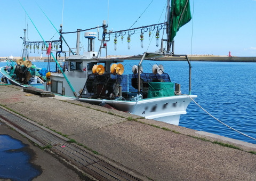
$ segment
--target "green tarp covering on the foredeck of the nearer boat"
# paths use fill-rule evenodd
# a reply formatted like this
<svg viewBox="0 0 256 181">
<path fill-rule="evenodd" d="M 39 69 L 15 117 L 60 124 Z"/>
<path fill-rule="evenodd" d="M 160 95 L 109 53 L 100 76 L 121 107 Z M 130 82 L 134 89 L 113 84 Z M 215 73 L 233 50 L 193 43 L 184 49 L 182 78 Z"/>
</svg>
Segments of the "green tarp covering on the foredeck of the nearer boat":
<svg viewBox="0 0 256 181">
<path fill-rule="evenodd" d="M 171 82 L 156 82 L 148 83 L 148 98 L 174 96 L 174 83 Z"/>
</svg>

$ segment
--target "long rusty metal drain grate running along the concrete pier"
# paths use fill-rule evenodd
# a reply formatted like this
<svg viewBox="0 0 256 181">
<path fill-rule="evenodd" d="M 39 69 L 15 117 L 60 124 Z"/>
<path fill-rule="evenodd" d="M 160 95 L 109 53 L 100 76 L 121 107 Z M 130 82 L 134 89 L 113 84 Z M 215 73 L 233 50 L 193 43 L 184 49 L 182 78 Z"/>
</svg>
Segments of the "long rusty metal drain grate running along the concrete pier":
<svg viewBox="0 0 256 181">
<path fill-rule="evenodd" d="M 2 108 L 0 108 L 0 120 L 1 119 L 23 131 L 23 133 L 33 137 L 45 146 L 52 145 L 51 150 L 53 152 L 59 154 L 60 157 L 68 160 L 70 163 L 98 180 L 141 180 L 104 161 L 90 151 L 75 144 L 68 143 L 64 139 L 37 126 L 35 123 L 33 124 L 21 117 L 15 116 Z"/>
</svg>

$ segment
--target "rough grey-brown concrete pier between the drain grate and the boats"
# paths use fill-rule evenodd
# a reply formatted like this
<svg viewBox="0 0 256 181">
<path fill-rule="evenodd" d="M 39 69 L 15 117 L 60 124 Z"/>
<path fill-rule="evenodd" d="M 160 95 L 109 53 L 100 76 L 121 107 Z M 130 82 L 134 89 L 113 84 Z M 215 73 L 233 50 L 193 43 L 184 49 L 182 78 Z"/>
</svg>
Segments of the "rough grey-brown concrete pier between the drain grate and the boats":
<svg viewBox="0 0 256 181">
<path fill-rule="evenodd" d="M 74 151 L 86 149 L 137 180 L 256 180 L 255 144 L 60 96 L 41 97 L 13 85 L 0 85 L 0 105 L 10 112 L 4 119 L 13 119 L 11 113 L 19 114 L 20 119 L 39 124 L 49 133 L 55 130 L 67 135 L 62 145 L 71 139 L 77 145 Z M 52 145 L 46 150 L 69 162 L 56 151 L 57 144 L 42 144 Z M 85 173 L 83 179 L 102 180 L 71 163 L 73 169 Z"/>
</svg>

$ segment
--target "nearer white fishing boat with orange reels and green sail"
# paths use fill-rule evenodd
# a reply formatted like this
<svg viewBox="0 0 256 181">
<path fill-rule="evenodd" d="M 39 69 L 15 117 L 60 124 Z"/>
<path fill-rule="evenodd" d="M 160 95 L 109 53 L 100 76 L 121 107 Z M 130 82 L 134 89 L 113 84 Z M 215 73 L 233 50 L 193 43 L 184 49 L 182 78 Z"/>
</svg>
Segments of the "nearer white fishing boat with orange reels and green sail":
<svg viewBox="0 0 256 181">
<path fill-rule="evenodd" d="M 143 26 L 129 30 L 108 31 L 106 21 L 97 32 L 86 31 L 84 37 L 88 40 L 88 50 L 79 54 L 80 32 L 77 32 L 76 53 L 70 55 L 64 67 L 57 72 L 48 72 L 45 89 L 62 96 L 70 96 L 75 100 L 96 105 L 103 105 L 120 111 L 130 112 L 146 119 L 154 119 L 178 125 L 181 114 L 186 114 L 189 103 L 196 98 L 191 95 L 191 64 L 187 55 L 174 54 L 173 38 L 181 26 L 191 19 L 188 0 L 172 1 L 167 5 L 169 19 L 160 24 Z M 181 7 L 179 9 L 179 7 Z M 177 11 L 179 12 L 177 13 Z M 145 31 L 157 27 L 156 38 L 159 38 L 158 28 L 165 27 L 166 39 L 162 38 L 161 48 L 157 52 L 145 52 L 134 56 L 107 56 L 106 44 L 110 34 L 123 35 L 136 29 Z M 102 28 L 102 39 L 99 38 L 99 28 Z M 90 28 L 91 30 L 93 28 Z M 99 51 L 94 51 L 94 40 L 101 41 Z M 129 43 L 130 34 L 127 37 Z M 143 39 L 143 34 L 141 34 Z M 116 42 L 116 37 L 114 43 Z M 163 48 L 166 44 L 166 49 Z M 172 48 L 171 48 L 172 47 Z M 106 56 L 102 57 L 102 50 Z M 170 56 L 171 60 L 185 59 L 189 64 L 189 93 L 181 94 L 180 85 L 171 81 L 161 64 L 155 64 L 151 70 L 142 68 L 146 60 L 155 60 L 161 56 Z M 130 74 L 124 75 L 124 61 L 138 60 Z M 170 61 L 164 59 L 163 61 Z"/>
</svg>

